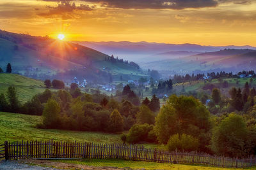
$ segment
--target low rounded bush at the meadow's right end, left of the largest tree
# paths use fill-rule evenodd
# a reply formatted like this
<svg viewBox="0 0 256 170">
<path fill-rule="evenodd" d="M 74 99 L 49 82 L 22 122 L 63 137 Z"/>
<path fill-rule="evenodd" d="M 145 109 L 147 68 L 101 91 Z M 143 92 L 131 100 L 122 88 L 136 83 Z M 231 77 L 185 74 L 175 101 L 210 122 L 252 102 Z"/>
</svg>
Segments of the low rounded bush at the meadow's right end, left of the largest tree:
<svg viewBox="0 0 256 170">
<path fill-rule="evenodd" d="M 127 134 L 127 143 L 139 143 L 143 141 L 150 141 L 148 139 L 148 132 L 153 130 L 153 125 L 136 124 L 131 127 Z"/>
</svg>

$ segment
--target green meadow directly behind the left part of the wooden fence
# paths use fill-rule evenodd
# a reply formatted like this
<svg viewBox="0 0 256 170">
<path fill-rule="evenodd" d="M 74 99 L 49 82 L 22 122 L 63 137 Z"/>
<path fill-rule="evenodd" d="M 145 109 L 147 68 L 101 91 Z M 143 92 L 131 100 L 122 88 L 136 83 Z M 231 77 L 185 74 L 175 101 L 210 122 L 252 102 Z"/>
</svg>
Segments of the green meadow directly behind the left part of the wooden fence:
<svg viewBox="0 0 256 170">
<path fill-rule="evenodd" d="M 120 143 L 119 134 L 36 129 L 42 117 L 0 112 L 0 143 L 4 141 L 49 140 L 93 143 Z"/>
</svg>

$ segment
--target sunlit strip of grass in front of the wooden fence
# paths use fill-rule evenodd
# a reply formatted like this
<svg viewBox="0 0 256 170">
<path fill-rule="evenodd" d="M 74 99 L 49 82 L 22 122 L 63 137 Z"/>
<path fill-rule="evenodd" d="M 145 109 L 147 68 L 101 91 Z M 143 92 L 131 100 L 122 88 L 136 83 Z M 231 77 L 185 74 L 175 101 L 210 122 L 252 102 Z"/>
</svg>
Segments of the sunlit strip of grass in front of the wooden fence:
<svg viewBox="0 0 256 170">
<path fill-rule="evenodd" d="M 205 166 L 191 166 L 191 165 L 180 165 L 180 164 L 168 164 L 168 163 L 155 163 L 155 162 L 143 162 L 143 161 L 132 161 L 132 160 L 118 160 L 118 159 L 82 159 L 82 160 L 54 160 L 57 162 L 64 162 L 69 164 L 79 164 L 86 166 L 95 167 L 130 167 L 132 169 L 185 169 L 185 170 L 226 170 L 227 168 L 220 167 L 205 167 Z M 253 169 L 253 168 L 250 168 Z"/>
</svg>

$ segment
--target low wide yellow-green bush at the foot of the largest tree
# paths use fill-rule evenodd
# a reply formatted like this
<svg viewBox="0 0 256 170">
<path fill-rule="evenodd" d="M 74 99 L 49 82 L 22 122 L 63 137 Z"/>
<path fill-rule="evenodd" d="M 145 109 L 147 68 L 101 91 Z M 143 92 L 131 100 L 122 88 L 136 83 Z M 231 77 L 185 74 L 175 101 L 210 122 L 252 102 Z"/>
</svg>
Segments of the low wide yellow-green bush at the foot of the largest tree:
<svg viewBox="0 0 256 170">
<path fill-rule="evenodd" d="M 179 150 L 179 151 L 194 151 L 197 150 L 199 146 L 199 140 L 190 136 L 188 134 L 174 134 L 170 137 L 167 148 L 169 151 Z"/>
</svg>

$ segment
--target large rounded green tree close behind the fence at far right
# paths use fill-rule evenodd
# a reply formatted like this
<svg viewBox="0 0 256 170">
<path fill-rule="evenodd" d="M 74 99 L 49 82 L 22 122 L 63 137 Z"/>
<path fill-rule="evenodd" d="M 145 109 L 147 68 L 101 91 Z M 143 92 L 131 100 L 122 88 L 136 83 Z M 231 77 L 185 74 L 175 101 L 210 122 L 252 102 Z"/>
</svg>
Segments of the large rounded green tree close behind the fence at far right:
<svg viewBox="0 0 256 170">
<path fill-rule="evenodd" d="M 243 117 L 230 113 L 214 129 L 211 139 L 212 150 L 228 157 L 241 157 L 246 152 L 248 130 Z"/>
</svg>

